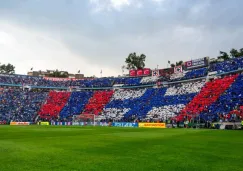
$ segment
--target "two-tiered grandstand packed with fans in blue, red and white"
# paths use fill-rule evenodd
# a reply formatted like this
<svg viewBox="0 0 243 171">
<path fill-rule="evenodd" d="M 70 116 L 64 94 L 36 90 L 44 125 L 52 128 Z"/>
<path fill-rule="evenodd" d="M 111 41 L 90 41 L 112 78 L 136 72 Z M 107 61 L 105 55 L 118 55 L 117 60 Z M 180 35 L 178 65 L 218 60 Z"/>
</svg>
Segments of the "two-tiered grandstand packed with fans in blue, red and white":
<svg viewBox="0 0 243 171">
<path fill-rule="evenodd" d="M 190 61 L 191 62 L 191 61 Z M 242 114 L 243 57 L 205 64 L 169 76 L 54 81 L 0 75 L 0 121 L 72 121 L 94 114 L 99 121 L 175 122 L 235 120 Z M 191 63 L 190 63 L 191 65 Z"/>
</svg>

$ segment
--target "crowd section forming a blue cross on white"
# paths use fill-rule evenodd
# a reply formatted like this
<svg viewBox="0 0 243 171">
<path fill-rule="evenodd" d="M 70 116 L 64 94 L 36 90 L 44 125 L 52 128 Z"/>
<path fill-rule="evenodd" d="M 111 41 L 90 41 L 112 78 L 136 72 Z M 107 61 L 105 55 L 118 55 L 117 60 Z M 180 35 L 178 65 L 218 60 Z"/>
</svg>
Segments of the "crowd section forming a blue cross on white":
<svg viewBox="0 0 243 171">
<path fill-rule="evenodd" d="M 205 80 L 181 83 L 167 88 L 116 90 L 103 115 L 118 120 L 174 117 L 201 90 Z"/>
</svg>

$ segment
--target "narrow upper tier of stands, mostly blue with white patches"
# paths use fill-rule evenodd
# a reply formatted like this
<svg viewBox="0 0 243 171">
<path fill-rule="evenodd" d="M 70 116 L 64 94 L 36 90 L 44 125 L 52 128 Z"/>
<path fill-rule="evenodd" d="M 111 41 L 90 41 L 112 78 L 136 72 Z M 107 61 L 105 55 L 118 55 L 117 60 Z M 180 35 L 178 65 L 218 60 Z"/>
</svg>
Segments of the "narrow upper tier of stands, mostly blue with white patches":
<svg viewBox="0 0 243 171">
<path fill-rule="evenodd" d="M 234 58 L 228 61 L 210 64 L 208 68 L 199 68 L 182 73 L 170 75 L 170 77 L 110 77 L 110 78 L 94 78 L 84 80 L 67 80 L 67 81 L 53 81 L 43 77 L 33 77 L 26 75 L 0 75 L 0 85 L 7 86 L 32 86 L 32 87 L 48 87 L 48 88 L 63 88 L 67 89 L 70 86 L 80 88 L 110 88 L 114 85 L 121 86 L 144 86 L 154 85 L 158 79 L 163 81 L 182 81 L 200 77 L 206 77 L 208 72 L 216 71 L 217 73 L 231 72 L 241 70 L 243 67 L 243 57 Z"/>
</svg>

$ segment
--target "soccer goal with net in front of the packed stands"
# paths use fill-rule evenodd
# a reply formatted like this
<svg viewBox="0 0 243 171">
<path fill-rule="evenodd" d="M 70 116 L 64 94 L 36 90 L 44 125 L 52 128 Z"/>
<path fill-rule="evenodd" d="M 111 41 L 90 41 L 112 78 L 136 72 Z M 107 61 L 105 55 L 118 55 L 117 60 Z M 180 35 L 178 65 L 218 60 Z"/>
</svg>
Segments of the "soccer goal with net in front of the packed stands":
<svg viewBox="0 0 243 171">
<path fill-rule="evenodd" d="M 76 122 L 76 123 L 87 123 L 88 125 L 95 126 L 95 124 L 96 124 L 96 117 L 95 117 L 94 114 L 73 115 L 73 122 Z"/>
</svg>

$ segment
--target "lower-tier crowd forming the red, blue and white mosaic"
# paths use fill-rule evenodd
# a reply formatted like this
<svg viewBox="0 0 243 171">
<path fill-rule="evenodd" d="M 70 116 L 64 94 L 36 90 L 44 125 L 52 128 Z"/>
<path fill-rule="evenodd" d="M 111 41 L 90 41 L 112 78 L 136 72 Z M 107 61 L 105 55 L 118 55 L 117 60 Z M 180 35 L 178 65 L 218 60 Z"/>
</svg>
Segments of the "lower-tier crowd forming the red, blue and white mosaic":
<svg viewBox="0 0 243 171">
<path fill-rule="evenodd" d="M 43 91 L 2 88 L 0 121 L 72 120 L 95 114 L 115 121 L 160 120 L 177 116 L 215 119 L 243 106 L 243 75 L 169 84 L 162 88 L 104 91 Z"/>
</svg>

